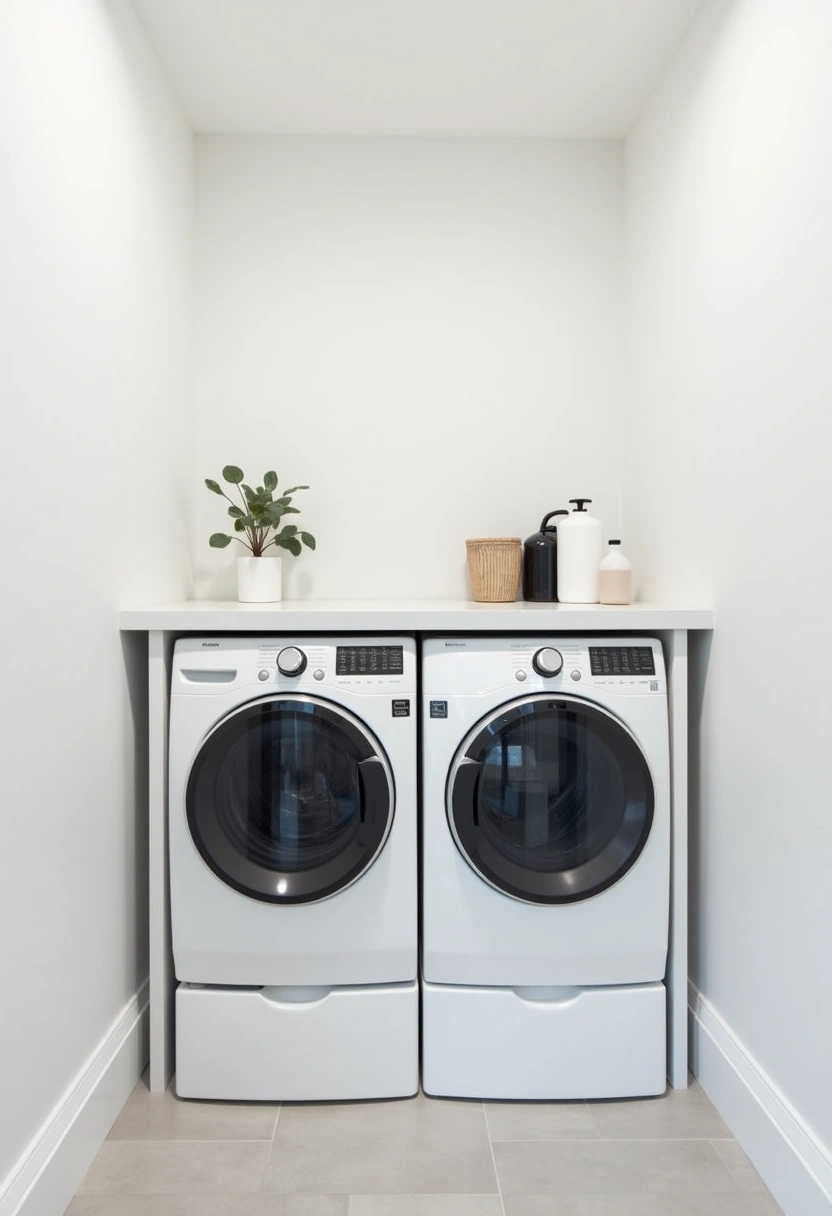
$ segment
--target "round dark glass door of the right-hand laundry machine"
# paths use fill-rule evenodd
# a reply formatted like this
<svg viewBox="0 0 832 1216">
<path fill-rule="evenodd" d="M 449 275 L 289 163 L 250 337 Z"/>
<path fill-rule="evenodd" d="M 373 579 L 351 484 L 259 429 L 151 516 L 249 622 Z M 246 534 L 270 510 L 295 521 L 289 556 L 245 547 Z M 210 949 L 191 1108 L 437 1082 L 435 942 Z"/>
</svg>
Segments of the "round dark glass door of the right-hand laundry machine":
<svg viewBox="0 0 832 1216">
<path fill-rule="evenodd" d="M 578 698 L 529 697 L 484 719 L 448 781 L 465 860 L 530 903 L 577 902 L 617 883 L 647 841 L 653 804 L 636 741 Z"/>
</svg>

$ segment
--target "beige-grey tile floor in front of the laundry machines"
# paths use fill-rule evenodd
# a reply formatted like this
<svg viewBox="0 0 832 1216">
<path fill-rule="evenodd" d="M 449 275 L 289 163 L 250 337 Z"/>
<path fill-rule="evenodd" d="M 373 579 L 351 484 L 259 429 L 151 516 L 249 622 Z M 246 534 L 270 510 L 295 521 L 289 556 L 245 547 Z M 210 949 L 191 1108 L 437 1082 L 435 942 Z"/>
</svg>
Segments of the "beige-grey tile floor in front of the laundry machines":
<svg viewBox="0 0 832 1216">
<path fill-rule="evenodd" d="M 777 1216 L 699 1086 L 628 1102 L 236 1105 L 146 1077 L 67 1216 Z"/>
</svg>

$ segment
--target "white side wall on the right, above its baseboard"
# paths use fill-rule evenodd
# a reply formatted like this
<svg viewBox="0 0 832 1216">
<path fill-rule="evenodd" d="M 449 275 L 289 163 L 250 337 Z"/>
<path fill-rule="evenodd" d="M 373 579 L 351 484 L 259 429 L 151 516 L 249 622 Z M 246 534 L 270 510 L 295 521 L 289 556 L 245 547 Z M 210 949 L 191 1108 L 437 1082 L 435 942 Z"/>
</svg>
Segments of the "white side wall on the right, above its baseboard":
<svg viewBox="0 0 832 1216">
<path fill-rule="evenodd" d="M 823 0 L 712 0 L 631 133 L 624 461 L 643 595 L 716 609 L 692 979 L 827 1167 L 830 62 Z"/>
</svg>

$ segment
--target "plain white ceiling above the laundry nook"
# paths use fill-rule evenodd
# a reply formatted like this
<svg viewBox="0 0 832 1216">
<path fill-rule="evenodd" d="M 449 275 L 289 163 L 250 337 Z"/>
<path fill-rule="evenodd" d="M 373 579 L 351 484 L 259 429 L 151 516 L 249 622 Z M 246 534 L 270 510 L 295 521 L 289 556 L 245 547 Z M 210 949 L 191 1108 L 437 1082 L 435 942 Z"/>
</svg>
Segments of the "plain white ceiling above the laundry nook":
<svg viewBox="0 0 832 1216">
<path fill-rule="evenodd" d="M 133 0 L 197 131 L 620 139 L 699 0 Z"/>
</svg>

